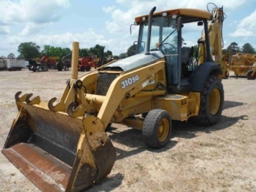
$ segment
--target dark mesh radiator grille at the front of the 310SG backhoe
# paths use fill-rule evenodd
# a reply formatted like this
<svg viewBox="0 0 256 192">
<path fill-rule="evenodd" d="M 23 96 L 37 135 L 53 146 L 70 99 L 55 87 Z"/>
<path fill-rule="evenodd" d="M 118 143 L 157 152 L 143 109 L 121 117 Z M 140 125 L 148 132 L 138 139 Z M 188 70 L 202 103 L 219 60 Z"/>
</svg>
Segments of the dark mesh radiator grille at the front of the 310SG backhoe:
<svg viewBox="0 0 256 192">
<path fill-rule="evenodd" d="M 97 84 L 97 95 L 106 95 L 110 84 L 118 77 L 119 74 L 99 73 Z"/>
</svg>

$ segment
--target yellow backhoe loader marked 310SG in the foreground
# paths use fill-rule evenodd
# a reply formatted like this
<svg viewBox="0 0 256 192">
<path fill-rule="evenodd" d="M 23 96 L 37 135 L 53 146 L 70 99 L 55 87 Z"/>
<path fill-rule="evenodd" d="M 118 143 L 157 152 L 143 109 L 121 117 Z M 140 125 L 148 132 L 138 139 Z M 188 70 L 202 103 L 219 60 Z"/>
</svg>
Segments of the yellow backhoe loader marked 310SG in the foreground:
<svg viewBox="0 0 256 192">
<path fill-rule="evenodd" d="M 80 191 L 108 175 L 116 159 L 105 133 L 110 122 L 142 130 L 148 147 L 161 148 L 170 141 L 172 120 L 219 121 L 226 72 L 218 52 L 222 8 L 155 10 L 135 18 L 136 55 L 80 77 L 74 42 L 71 79 L 56 104 L 56 98 L 45 103 L 16 93 L 18 115 L 2 153 L 41 190 Z M 193 48 L 182 44 L 191 23 L 203 30 L 198 66 L 190 62 Z"/>
</svg>

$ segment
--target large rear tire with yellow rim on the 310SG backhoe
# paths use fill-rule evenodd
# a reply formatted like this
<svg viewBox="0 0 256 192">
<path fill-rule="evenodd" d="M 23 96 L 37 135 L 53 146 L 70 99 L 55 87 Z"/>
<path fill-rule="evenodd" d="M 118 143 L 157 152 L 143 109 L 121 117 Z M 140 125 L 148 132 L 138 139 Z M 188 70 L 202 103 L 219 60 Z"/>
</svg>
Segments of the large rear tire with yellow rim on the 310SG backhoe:
<svg viewBox="0 0 256 192">
<path fill-rule="evenodd" d="M 217 123 L 221 117 L 223 103 L 223 85 L 220 79 L 210 75 L 204 83 L 203 92 L 201 92 L 198 116 L 193 117 L 192 120 L 204 126 Z"/>
</svg>

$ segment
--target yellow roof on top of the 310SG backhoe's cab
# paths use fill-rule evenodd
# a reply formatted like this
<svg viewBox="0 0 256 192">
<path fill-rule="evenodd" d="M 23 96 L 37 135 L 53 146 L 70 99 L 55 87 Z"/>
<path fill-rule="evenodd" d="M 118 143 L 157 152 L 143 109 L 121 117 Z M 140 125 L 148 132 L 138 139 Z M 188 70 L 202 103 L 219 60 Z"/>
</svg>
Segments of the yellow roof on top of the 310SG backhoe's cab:
<svg viewBox="0 0 256 192">
<path fill-rule="evenodd" d="M 199 10 L 199 9 L 185 9 L 185 8 L 156 12 L 153 14 L 153 17 L 162 16 L 162 13 L 167 13 L 167 16 L 184 15 L 190 18 L 202 18 L 207 20 L 212 18 L 212 14 L 207 11 Z M 142 17 L 145 17 L 145 20 L 148 20 L 148 14 L 147 14 L 147 15 L 135 17 L 135 22 L 142 22 Z"/>
</svg>

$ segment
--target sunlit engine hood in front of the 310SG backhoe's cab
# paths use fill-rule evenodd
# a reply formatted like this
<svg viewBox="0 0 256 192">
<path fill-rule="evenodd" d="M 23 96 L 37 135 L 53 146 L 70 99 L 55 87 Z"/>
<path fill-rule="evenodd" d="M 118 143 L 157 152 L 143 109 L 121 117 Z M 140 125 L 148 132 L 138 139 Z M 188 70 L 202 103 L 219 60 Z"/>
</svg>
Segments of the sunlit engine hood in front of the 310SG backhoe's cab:
<svg viewBox="0 0 256 192">
<path fill-rule="evenodd" d="M 119 68 L 124 72 L 136 69 L 138 67 L 150 65 L 156 60 L 164 58 L 164 55 L 161 51 L 151 51 L 150 55 L 145 55 L 145 53 L 140 53 L 137 55 L 133 55 L 131 57 L 127 57 L 125 59 L 118 60 L 114 63 L 103 68 L 103 70 L 108 70 L 111 68 Z"/>
</svg>

